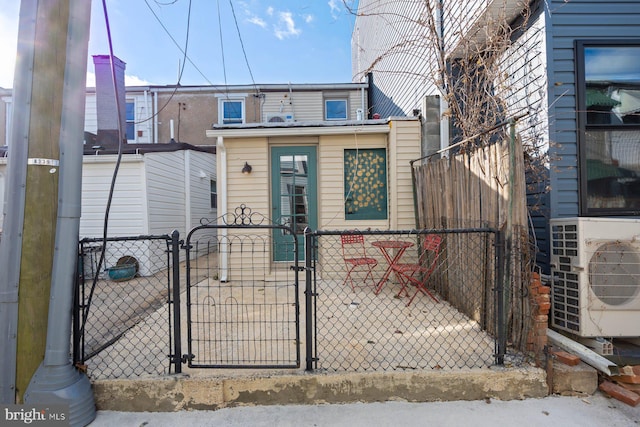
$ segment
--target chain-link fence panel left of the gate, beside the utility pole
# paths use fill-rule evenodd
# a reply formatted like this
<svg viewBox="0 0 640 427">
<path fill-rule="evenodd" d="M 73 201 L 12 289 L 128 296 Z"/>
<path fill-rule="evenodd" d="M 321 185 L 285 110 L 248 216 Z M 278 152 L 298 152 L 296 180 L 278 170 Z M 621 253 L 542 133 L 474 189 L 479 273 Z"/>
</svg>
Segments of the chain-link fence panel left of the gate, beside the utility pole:
<svg viewBox="0 0 640 427">
<path fill-rule="evenodd" d="M 177 232 L 80 242 L 73 360 L 91 378 L 180 371 L 172 331 L 177 256 Z"/>
</svg>

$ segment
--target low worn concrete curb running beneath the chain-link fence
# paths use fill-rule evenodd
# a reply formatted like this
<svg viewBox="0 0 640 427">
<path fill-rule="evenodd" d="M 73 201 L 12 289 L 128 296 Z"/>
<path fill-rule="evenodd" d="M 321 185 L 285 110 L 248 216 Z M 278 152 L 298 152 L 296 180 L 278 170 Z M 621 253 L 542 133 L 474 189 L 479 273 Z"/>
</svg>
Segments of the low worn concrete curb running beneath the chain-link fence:
<svg viewBox="0 0 640 427">
<path fill-rule="evenodd" d="M 533 367 L 229 378 L 177 375 L 99 380 L 93 390 L 99 410 L 128 412 L 393 400 L 514 400 L 548 394 L 546 373 Z"/>
</svg>

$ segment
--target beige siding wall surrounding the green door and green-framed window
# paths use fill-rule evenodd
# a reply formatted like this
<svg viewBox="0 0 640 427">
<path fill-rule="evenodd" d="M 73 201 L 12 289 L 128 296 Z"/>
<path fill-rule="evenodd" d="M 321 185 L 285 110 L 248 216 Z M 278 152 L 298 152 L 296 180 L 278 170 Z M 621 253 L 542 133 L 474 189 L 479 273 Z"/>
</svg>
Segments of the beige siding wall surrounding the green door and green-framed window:
<svg viewBox="0 0 640 427">
<path fill-rule="evenodd" d="M 228 211 L 233 212 L 236 207 L 245 204 L 254 212 L 271 216 L 269 147 L 312 144 L 317 145 L 318 150 L 320 229 L 413 228 L 415 221 L 409 161 L 420 157 L 420 122 L 399 120 L 391 122 L 390 127 L 389 134 L 381 132 L 359 135 L 354 132 L 304 138 L 226 138 Z M 386 220 L 345 220 L 344 150 L 355 148 L 387 149 L 389 218 Z M 245 161 L 253 167 L 252 173 L 248 176 L 241 173 Z M 219 192 L 221 191 L 222 189 L 219 189 Z"/>
</svg>

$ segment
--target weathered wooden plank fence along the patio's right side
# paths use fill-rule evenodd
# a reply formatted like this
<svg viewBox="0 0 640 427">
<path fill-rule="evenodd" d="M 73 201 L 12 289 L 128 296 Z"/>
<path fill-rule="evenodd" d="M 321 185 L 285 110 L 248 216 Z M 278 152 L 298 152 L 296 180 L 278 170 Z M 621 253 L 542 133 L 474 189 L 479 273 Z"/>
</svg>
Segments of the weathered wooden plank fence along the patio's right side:
<svg viewBox="0 0 640 427">
<path fill-rule="evenodd" d="M 501 258 L 502 268 L 507 272 L 503 299 L 506 334 L 511 345 L 524 349 L 532 319 L 528 301 L 530 256 L 522 145 L 503 135 L 492 145 L 431 158 L 414 165 L 413 172 L 419 228 L 492 227 L 507 236 Z M 448 256 L 455 254 L 463 259 L 468 256 L 467 251 L 475 247 L 466 241 L 468 238 L 465 234 L 449 236 L 445 247 Z M 451 270 L 452 274 L 439 278 L 438 288 L 460 311 L 480 322 L 487 331 L 497 333 L 495 325 L 483 321 L 494 318 L 495 289 L 501 280 L 496 277 L 496 259 L 487 259 L 485 269 L 482 283 L 477 280 L 477 272 Z M 469 293 L 476 297 L 469 298 Z"/>
</svg>

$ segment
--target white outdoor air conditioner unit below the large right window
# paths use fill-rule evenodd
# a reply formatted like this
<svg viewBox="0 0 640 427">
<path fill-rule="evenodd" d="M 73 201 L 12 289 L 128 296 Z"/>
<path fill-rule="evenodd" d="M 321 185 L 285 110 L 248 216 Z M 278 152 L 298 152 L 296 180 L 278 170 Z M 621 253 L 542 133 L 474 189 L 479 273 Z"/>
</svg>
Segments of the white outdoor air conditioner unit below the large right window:
<svg viewBox="0 0 640 427">
<path fill-rule="evenodd" d="M 640 336 L 640 220 L 550 222 L 551 325 L 581 337 Z"/>
</svg>

